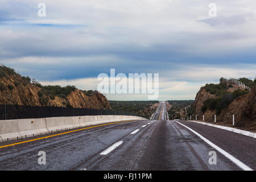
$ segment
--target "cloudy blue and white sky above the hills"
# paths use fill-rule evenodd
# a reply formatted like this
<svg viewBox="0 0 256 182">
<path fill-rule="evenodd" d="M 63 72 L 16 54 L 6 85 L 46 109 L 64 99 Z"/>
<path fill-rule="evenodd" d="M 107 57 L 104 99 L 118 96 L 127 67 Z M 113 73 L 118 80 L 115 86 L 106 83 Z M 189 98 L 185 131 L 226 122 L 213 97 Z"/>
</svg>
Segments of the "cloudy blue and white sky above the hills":
<svg viewBox="0 0 256 182">
<path fill-rule="evenodd" d="M 39 3 L 46 17 L 39 17 Z M 209 16 L 209 4 L 217 16 Z M 255 0 L 1 0 L 0 63 L 43 84 L 97 89 L 97 76 L 159 73 L 159 100 L 256 75 Z M 144 94 L 106 94 L 147 100 Z"/>
</svg>

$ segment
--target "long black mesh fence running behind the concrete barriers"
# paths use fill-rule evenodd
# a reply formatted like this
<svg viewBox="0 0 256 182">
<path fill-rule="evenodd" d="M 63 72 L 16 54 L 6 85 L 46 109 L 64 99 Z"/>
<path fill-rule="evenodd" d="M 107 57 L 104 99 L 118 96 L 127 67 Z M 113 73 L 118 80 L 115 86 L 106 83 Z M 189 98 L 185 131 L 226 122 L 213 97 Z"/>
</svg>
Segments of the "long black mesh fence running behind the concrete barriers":
<svg viewBox="0 0 256 182">
<path fill-rule="evenodd" d="M 114 111 L 104 109 L 87 109 L 73 107 L 51 107 L 51 106 L 21 106 L 0 105 L 0 120 L 3 119 L 26 119 L 26 118 L 49 118 L 70 117 L 80 115 L 142 115 L 127 111 Z"/>
</svg>

